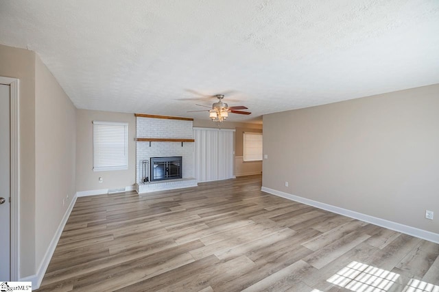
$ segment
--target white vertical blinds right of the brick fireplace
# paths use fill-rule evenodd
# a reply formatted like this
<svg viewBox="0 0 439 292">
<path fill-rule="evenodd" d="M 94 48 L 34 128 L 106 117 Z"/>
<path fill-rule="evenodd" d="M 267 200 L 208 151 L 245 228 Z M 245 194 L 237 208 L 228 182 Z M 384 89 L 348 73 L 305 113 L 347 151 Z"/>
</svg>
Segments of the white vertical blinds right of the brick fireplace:
<svg viewBox="0 0 439 292">
<path fill-rule="evenodd" d="M 219 181 L 233 176 L 233 132 L 229 129 L 193 128 L 195 178 Z"/>
</svg>

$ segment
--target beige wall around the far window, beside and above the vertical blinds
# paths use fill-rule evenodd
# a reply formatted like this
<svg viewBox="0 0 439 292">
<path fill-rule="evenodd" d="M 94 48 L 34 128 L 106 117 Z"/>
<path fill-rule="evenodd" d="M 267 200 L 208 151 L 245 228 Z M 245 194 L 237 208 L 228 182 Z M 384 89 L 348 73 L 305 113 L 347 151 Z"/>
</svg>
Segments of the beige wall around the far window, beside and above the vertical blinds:
<svg viewBox="0 0 439 292">
<path fill-rule="evenodd" d="M 211 120 L 193 120 L 193 127 L 200 128 L 218 128 L 217 122 Z M 250 124 L 245 122 L 222 122 L 222 129 L 235 129 L 234 150 L 235 150 L 235 167 L 234 175 L 248 175 L 262 172 L 262 161 L 246 161 L 243 160 L 244 155 L 244 132 L 262 133 L 262 124 Z"/>
</svg>

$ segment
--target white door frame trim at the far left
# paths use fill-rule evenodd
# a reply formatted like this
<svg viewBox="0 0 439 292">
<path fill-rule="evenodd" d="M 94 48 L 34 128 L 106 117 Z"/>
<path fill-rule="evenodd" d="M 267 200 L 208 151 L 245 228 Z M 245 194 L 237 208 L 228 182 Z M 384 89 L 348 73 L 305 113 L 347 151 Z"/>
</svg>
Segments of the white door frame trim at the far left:
<svg viewBox="0 0 439 292">
<path fill-rule="evenodd" d="M 19 280 L 20 262 L 20 127 L 19 79 L 0 77 L 0 83 L 10 85 L 10 280 Z"/>
</svg>

